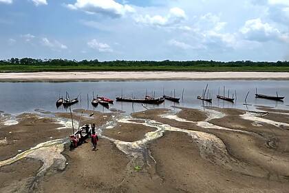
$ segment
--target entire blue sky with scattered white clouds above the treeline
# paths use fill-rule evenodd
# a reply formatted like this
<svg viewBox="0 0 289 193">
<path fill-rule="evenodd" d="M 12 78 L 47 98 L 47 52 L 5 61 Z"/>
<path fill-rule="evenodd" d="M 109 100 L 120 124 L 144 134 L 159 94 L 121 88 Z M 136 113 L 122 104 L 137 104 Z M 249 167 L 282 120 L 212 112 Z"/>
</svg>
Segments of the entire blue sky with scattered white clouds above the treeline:
<svg viewBox="0 0 289 193">
<path fill-rule="evenodd" d="M 0 59 L 289 61 L 289 0 L 0 0 Z"/>
</svg>

